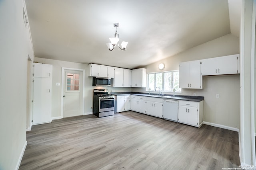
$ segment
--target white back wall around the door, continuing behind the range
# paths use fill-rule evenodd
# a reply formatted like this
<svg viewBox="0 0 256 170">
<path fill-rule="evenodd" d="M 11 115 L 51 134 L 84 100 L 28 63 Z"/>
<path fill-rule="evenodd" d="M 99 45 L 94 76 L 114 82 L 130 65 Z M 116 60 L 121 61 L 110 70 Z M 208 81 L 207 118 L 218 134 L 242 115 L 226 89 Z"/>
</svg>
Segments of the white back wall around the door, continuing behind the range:
<svg viewBox="0 0 256 170">
<path fill-rule="evenodd" d="M 35 62 L 52 64 L 52 117 L 61 116 L 61 86 L 56 86 L 57 82 L 62 82 L 62 67 L 85 69 L 85 92 L 84 92 L 84 114 L 92 114 L 93 89 L 106 88 L 113 92 L 130 92 L 131 88 L 99 87 L 92 86 L 92 77 L 88 77 L 88 64 L 73 63 L 67 61 L 35 58 Z"/>
</svg>

